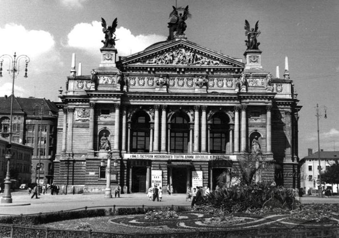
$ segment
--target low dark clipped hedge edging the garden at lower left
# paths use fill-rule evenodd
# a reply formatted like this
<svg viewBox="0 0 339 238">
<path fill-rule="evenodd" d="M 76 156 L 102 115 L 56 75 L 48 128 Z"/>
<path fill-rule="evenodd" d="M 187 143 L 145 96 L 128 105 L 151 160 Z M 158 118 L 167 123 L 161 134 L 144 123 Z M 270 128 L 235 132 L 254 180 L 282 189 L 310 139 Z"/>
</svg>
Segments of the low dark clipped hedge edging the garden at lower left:
<svg viewBox="0 0 339 238">
<path fill-rule="evenodd" d="M 91 210 L 65 211 L 65 212 L 60 211 L 28 216 L 0 217 L 0 223 L 15 225 L 39 225 L 49 222 L 58 222 L 86 217 L 100 217 L 105 215 L 106 215 L 105 209 L 91 209 Z"/>
</svg>

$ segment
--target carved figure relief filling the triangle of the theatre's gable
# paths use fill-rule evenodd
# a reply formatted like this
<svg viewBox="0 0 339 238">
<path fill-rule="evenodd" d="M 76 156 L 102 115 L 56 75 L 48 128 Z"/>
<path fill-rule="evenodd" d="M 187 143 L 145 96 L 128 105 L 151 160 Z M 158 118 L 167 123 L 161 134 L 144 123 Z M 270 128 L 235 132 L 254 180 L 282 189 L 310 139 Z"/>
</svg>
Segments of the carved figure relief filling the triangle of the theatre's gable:
<svg viewBox="0 0 339 238">
<path fill-rule="evenodd" d="M 190 49 L 179 48 L 154 56 L 146 64 L 187 64 L 187 65 L 222 65 L 217 60 L 202 56 Z"/>
</svg>

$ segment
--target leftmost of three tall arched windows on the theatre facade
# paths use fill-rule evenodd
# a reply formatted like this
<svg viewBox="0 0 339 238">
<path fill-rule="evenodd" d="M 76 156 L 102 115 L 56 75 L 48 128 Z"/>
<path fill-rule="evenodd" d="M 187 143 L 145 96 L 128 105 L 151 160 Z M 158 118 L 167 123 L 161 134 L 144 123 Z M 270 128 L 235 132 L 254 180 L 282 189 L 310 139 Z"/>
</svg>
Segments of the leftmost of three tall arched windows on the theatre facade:
<svg viewBox="0 0 339 238">
<path fill-rule="evenodd" d="M 132 117 L 132 152 L 150 152 L 150 117 L 145 111 L 138 111 Z"/>
</svg>

